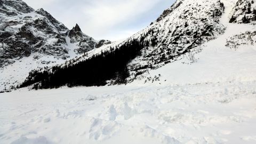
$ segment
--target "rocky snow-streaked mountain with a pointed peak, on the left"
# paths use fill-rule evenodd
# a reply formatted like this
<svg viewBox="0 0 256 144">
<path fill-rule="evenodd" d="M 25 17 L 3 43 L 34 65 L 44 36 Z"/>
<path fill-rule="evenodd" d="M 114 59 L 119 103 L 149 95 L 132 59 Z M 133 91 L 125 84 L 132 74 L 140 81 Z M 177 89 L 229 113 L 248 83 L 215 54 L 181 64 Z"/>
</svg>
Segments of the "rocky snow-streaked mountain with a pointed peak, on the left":
<svg viewBox="0 0 256 144">
<path fill-rule="evenodd" d="M 30 70 L 111 43 L 94 40 L 78 25 L 69 30 L 47 11 L 34 10 L 21 0 L 0 0 L 0 21 L 0 89 L 23 81 Z"/>
</svg>

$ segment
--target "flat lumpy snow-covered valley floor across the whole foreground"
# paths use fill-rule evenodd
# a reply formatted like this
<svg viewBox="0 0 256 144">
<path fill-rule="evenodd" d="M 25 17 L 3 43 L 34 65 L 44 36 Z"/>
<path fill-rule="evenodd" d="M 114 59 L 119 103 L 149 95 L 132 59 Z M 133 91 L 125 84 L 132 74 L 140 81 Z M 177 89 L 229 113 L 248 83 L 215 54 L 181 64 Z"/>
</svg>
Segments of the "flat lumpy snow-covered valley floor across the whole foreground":
<svg viewBox="0 0 256 144">
<path fill-rule="evenodd" d="M 0 94 L 0 143 L 256 143 L 256 82 Z"/>
</svg>

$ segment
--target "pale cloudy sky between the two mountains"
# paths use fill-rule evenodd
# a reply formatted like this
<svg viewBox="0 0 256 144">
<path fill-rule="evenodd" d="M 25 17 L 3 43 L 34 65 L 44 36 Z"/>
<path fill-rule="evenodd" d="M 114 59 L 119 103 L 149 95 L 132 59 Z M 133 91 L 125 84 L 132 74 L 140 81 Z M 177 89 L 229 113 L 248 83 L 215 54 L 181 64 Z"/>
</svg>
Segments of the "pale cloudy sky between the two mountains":
<svg viewBox="0 0 256 144">
<path fill-rule="evenodd" d="M 76 23 L 94 39 L 117 41 L 155 21 L 175 0 L 23 0 L 43 8 L 69 29 Z"/>
</svg>

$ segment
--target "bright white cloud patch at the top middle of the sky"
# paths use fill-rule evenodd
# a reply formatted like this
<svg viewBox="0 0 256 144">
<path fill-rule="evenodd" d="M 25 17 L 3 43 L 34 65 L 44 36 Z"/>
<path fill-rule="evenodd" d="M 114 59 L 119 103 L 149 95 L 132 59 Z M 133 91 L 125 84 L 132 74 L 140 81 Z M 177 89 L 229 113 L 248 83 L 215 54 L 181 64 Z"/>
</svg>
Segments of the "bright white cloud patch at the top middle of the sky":
<svg viewBox="0 0 256 144">
<path fill-rule="evenodd" d="M 133 19 L 137 15 L 151 9 L 158 1 L 160 0 L 129 0 L 116 3 L 94 1 L 93 7 L 85 7 L 83 12 L 85 15 L 90 15 L 93 25 L 97 24 L 108 27 Z M 105 25 L 102 25 L 102 22 Z"/>
</svg>

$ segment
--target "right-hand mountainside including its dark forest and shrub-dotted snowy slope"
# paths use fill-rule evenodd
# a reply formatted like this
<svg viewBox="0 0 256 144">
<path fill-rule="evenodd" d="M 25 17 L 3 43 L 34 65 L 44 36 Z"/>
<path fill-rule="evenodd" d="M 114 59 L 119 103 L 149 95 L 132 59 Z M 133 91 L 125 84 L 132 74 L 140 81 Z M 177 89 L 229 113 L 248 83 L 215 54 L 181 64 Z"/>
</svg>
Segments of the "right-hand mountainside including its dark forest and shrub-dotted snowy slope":
<svg viewBox="0 0 256 144">
<path fill-rule="evenodd" d="M 37 85 L 39 88 L 66 84 L 99 86 L 131 83 L 137 79 L 144 79 L 143 82 L 158 80 L 160 74 L 145 75 L 184 57 L 196 62 L 194 55 L 203 50 L 204 43 L 226 34 L 228 26 L 223 21 L 229 18 L 224 15 L 232 15 L 233 11 L 226 10 L 223 2 L 231 5 L 233 11 L 239 5 L 239 2 L 235 5 L 219 0 L 178 0 L 150 26 L 125 41 L 102 46 L 60 66 L 31 71 L 21 86 L 36 82 L 41 82 Z M 67 74 L 68 78 L 61 79 Z"/>
</svg>

